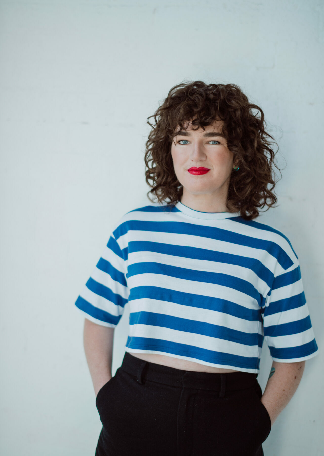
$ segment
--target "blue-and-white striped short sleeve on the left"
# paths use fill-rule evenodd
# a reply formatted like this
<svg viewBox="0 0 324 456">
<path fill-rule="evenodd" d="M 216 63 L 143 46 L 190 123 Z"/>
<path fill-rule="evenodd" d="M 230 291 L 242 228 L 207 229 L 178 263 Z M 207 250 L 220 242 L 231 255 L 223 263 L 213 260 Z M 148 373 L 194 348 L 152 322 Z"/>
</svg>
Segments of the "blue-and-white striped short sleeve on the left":
<svg viewBox="0 0 324 456">
<path fill-rule="evenodd" d="M 126 278 L 123 251 L 112 233 L 75 305 L 88 320 L 117 326 L 129 296 Z"/>
</svg>

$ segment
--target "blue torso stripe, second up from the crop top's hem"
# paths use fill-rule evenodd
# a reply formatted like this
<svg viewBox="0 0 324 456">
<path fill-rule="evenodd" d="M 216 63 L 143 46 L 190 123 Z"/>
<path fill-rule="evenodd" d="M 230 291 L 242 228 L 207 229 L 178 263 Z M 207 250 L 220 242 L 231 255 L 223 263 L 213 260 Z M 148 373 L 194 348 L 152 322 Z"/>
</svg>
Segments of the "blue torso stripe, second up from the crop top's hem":
<svg viewBox="0 0 324 456">
<path fill-rule="evenodd" d="M 159 314 L 155 312 L 132 312 L 129 314 L 130 325 L 162 326 L 176 331 L 192 332 L 202 336 L 217 337 L 226 341 L 237 342 L 243 345 L 256 345 L 257 333 L 248 333 L 226 328 L 226 326 L 207 323 L 206 321 L 188 320 L 177 316 Z"/>
</svg>

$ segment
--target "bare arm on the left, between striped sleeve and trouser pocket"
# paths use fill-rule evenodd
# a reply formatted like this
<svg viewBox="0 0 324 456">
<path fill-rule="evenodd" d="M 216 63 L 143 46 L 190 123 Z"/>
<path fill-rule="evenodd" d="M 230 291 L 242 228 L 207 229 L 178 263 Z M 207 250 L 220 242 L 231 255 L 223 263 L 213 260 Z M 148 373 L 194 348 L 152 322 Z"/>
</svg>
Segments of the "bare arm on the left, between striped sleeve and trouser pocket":
<svg viewBox="0 0 324 456">
<path fill-rule="evenodd" d="M 114 329 L 84 319 L 83 346 L 96 397 L 99 389 L 112 377 Z"/>
</svg>

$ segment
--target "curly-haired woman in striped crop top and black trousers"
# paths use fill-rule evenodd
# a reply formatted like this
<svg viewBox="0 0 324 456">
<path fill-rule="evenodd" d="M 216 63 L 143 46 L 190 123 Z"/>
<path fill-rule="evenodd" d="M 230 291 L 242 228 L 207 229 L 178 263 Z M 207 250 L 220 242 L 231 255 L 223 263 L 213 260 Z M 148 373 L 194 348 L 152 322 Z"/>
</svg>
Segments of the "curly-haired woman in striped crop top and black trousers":
<svg viewBox="0 0 324 456">
<path fill-rule="evenodd" d="M 277 202 L 273 137 L 235 84 L 179 84 L 151 117 L 146 182 L 159 203 L 115 223 L 76 301 L 103 424 L 96 456 L 260 456 L 318 352 L 298 257 L 255 221 Z"/>
</svg>

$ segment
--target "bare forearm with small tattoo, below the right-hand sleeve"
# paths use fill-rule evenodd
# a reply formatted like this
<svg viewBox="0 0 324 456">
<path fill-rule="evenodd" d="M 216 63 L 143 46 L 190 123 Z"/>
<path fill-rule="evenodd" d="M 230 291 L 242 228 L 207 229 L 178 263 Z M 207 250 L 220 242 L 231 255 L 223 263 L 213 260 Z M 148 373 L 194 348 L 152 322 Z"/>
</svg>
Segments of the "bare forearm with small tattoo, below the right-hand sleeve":
<svg viewBox="0 0 324 456">
<path fill-rule="evenodd" d="M 273 361 L 273 372 L 269 375 L 261 398 L 262 404 L 268 411 L 272 425 L 295 394 L 303 376 L 304 367 L 305 361 L 297 363 L 278 363 Z"/>
</svg>

